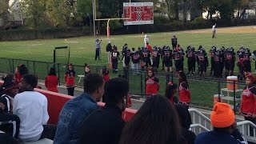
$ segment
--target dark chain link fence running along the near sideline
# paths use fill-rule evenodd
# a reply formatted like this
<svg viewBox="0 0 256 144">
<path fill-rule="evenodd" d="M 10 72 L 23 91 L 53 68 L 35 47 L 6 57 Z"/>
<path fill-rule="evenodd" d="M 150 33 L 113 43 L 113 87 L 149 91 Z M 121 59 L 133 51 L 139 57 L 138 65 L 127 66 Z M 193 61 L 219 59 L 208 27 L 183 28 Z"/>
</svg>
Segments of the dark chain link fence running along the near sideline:
<svg viewBox="0 0 256 144">
<path fill-rule="evenodd" d="M 36 74 L 39 79 L 44 80 L 50 70 L 51 66 L 54 66 L 53 62 L 38 62 L 38 61 L 28 61 L 22 59 L 11 59 L 11 58 L 0 58 L 0 73 L 3 74 L 14 74 L 15 68 L 20 65 L 25 64 L 29 70 L 30 74 Z M 98 74 L 102 74 L 102 69 L 106 66 L 90 66 L 90 71 Z M 59 78 L 59 84 L 65 83 L 65 73 L 67 70 L 66 64 L 56 63 L 56 72 Z M 76 71 L 76 85 L 82 87 L 84 66 L 74 65 L 74 70 Z M 124 71 L 118 70 L 118 74 L 114 74 L 110 70 L 110 78 L 115 78 L 120 75 L 126 75 L 126 78 L 130 85 L 130 94 L 134 98 L 146 98 L 146 71 L 138 70 L 134 72 L 132 70 Z M 167 82 L 174 82 L 178 84 L 178 76 L 176 74 L 166 74 L 164 72 L 158 72 L 156 77 L 159 79 L 160 90 L 159 94 L 164 95 L 166 90 Z M 246 86 L 245 82 L 238 82 L 237 89 L 228 90 L 226 79 L 224 78 L 211 78 L 211 77 L 198 77 L 187 75 L 187 81 L 190 86 L 191 93 L 191 105 L 200 106 L 202 108 L 211 109 L 214 104 L 215 97 L 220 96 L 223 102 L 228 102 L 235 110 L 239 109 L 239 103 L 241 101 L 241 94 L 243 88 Z M 235 85 L 236 83 L 234 83 Z M 178 97 L 178 94 L 176 94 Z"/>
</svg>

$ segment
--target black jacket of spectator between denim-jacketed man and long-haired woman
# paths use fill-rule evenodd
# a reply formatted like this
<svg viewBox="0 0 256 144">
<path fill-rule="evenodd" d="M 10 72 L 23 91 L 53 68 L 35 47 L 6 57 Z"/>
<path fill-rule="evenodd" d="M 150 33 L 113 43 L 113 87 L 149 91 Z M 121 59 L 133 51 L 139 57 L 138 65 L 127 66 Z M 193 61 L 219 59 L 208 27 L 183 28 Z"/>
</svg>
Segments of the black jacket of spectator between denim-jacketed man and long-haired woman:
<svg viewBox="0 0 256 144">
<path fill-rule="evenodd" d="M 83 122 L 79 143 L 118 144 L 124 125 L 122 111 L 117 106 L 106 104 Z"/>
</svg>

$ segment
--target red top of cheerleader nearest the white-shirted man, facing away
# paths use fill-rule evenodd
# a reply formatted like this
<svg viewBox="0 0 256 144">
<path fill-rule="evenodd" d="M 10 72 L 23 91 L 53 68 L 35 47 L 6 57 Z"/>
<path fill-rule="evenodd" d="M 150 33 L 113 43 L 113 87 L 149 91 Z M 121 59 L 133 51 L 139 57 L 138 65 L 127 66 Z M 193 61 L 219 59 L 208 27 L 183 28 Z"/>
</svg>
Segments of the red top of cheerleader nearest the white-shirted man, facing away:
<svg viewBox="0 0 256 144">
<path fill-rule="evenodd" d="M 45 80 L 47 90 L 58 93 L 58 77 L 56 75 L 48 75 Z"/>
</svg>

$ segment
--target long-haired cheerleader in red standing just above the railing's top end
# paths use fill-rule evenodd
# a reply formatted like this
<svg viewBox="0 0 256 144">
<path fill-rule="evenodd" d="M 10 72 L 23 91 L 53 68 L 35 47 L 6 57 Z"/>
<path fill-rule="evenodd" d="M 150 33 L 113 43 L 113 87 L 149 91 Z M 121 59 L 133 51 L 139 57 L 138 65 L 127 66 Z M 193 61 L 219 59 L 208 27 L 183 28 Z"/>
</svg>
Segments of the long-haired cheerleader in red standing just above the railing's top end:
<svg viewBox="0 0 256 144">
<path fill-rule="evenodd" d="M 183 71 L 178 71 L 178 92 L 179 92 L 179 101 L 183 103 L 187 108 L 190 104 L 190 89 L 189 84 L 186 80 L 186 74 Z"/>
</svg>

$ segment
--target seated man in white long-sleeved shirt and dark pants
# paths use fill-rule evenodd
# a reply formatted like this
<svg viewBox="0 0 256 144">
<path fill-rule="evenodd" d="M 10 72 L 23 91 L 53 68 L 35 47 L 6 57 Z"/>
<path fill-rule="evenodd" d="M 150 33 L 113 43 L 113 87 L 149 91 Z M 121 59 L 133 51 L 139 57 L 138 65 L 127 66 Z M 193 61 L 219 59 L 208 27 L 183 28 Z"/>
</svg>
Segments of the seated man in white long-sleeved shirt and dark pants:
<svg viewBox="0 0 256 144">
<path fill-rule="evenodd" d="M 34 91 L 38 78 L 32 74 L 22 77 L 20 90 L 22 93 L 14 97 L 14 114 L 21 120 L 18 138 L 22 142 L 34 142 L 42 138 L 54 139 L 56 126 L 46 125 L 49 119 L 47 98 Z"/>
</svg>

